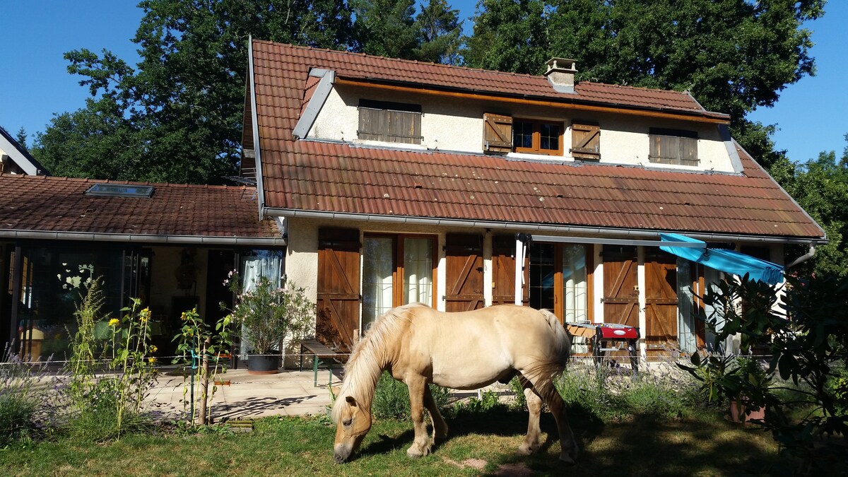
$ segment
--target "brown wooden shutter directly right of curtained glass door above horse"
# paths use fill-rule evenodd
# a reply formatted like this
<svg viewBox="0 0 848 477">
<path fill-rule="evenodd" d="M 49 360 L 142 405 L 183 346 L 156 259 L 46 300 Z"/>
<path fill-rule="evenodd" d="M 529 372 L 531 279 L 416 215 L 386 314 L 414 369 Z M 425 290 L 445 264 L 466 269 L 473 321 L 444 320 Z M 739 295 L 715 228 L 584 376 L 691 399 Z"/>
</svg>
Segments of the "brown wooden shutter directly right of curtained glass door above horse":
<svg viewBox="0 0 848 477">
<path fill-rule="evenodd" d="M 483 237 L 448 233 L 445 237 L 445 310 L 483 308 Z"/>
</svg>

